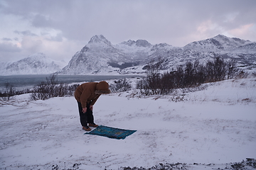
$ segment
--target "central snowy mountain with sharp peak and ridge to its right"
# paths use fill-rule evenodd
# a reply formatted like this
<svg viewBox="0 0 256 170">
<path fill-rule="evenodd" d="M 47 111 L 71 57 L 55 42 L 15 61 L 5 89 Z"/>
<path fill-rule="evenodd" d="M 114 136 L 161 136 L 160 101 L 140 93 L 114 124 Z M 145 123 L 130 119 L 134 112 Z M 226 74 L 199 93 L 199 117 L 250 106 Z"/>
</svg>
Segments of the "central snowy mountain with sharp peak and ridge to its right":
<svg viewBox="0 0 256 170">
<path fill-rule="evenodd" d="M 155 56 L 171 50 L 171 45 L 151 45 L 146 40 L 128 40 L 112 45 L 103 35 L 95 35 L 59 74 L 142 73 Z M 156 55 L 158 54 L 158 55 Z"/>
</svg>

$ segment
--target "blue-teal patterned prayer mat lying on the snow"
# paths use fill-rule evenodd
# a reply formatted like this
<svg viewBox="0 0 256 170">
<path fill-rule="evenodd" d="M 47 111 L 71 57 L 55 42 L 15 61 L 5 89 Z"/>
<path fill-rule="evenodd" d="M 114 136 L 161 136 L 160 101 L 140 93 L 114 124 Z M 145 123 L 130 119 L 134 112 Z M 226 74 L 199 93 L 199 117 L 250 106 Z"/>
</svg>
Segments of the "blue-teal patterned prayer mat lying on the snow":
<svg viewBox="0 0 256 170">
<path fill-rule="evenodd" d="M 137 130 L 123 130 L 123 129 L 111 128 L 111 127 L 100 125 L 98 128 L 95 128 L 95 130 L 86 132 L 85 134 L 99 135 L 99 136 L 114 138 L 117 140 L 120 140 L 120 139 L 124 140 L 125 137 L 132 135 L 136 131 Z"/>
</svg>

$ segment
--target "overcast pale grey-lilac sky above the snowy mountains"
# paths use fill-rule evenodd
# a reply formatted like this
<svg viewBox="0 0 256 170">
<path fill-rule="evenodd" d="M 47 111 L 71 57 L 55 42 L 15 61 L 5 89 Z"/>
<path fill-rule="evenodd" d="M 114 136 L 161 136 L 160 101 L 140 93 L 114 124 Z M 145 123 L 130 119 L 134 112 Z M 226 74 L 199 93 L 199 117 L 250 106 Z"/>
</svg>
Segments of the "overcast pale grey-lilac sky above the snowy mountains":
<svg viewBox="0 0 256 170">
<path fill-rule="evenodd" d="M 0 62 L 69 62 L 94 35 L 183 47 L 218 34 L 255 42 L 256 0 L 0 0 Z"/>
</svg>

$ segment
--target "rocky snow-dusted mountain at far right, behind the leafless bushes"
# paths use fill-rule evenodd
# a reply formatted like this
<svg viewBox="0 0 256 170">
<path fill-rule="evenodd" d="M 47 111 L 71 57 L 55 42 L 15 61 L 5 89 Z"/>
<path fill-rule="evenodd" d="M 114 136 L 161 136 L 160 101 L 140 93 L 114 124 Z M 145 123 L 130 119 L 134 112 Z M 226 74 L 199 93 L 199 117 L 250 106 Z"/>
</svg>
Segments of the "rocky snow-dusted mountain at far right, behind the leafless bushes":
<svg viewBox="0 0 256 170">
<path fill-rule="evenodd" d="M 240 40 L 239 38 L 228 38 L 224 35 L 217 35 L 214 38 L 191 42 L 183 47 L 189 57 L 199 60 L 209 60 L 212 57 L 223 57 L 234 59 L 242 67 L 255 67 L 256 48 L 255 42 Z M 185 56 L 185 55 L 183 55 Z"/>
</svg>

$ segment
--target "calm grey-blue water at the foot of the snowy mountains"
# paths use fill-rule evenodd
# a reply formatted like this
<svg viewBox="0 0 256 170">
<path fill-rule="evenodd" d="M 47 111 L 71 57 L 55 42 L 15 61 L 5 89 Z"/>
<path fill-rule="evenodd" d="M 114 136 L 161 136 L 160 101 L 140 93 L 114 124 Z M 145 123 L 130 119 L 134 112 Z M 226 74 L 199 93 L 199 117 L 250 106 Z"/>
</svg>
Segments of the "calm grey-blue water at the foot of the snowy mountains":
<svg viewBox="0 0 256 170">
<path fill-rule="evenodd" d="M 6 83 L 13 85 L 17 90 L 30 89 L 42 81 L 46 81 L 50 75 L 14 75 L 0 76 L 0 89 L 4 89 Z M 139 76 L 85 76 L 85 75 L 57 75 L 56 79 L 60 83 L 71 84 L 82 81 L 102 81 L 110 79 L 132 78 Z"/>
</svg>

